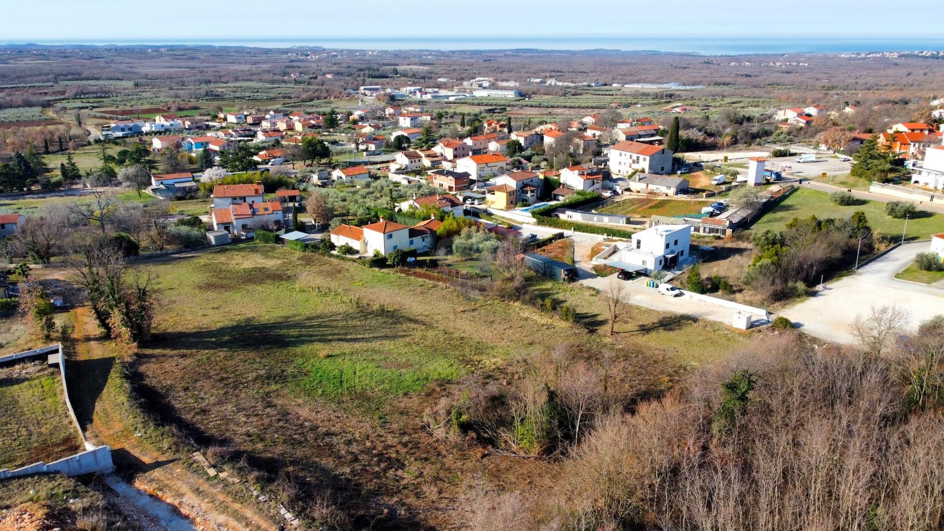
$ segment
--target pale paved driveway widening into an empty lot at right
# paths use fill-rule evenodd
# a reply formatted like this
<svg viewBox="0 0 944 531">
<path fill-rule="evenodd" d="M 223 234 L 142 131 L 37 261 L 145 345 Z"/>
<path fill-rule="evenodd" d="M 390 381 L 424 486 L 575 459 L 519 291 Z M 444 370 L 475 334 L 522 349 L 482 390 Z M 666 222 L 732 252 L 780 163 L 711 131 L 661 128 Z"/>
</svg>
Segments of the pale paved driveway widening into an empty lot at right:
<svg viewBox="0 0 944 531">
<path fill-rule="evenodd" d="M 827 284 L 825 291 L 784 309 L 781 315 L 801 326 L 807 334 L 839 343 L 852 343 L 850 324 L 870 308 L 896 304 L 911 312 L 909 329 L 921 321 L 944 314 L 944 289 L 895 279 L 915 255 L 928 250 L 927 242 L 905 244 L 872 261 L 848 277 Z"/>
</svg>

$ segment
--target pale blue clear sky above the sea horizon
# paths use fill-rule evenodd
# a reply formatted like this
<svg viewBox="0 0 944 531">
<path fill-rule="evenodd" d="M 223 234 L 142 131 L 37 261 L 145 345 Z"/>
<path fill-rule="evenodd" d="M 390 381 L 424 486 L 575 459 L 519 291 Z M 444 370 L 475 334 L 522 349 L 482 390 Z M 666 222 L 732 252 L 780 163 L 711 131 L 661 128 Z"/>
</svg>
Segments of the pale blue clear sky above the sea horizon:
<svg viewBox="0 0 944 531">
<path fill-rule="evenodd" d="M 312 43 L 359 35 L 944 39 L 940 0 L 43 0 L 39 5 L 37 19 L 36 2 L 0 0 L 5 19 L 0 43 L 170 43 L 287 34 Z M 16 20 L 25 23 L 10 24 Z"/>
</svg>

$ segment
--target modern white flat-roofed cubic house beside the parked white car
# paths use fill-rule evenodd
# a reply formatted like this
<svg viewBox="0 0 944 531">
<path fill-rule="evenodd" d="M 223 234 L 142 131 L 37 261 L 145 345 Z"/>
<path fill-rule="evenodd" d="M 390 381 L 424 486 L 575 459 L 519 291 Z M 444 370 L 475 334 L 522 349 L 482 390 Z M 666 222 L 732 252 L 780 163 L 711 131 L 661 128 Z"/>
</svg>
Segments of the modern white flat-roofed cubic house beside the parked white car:
<svg viewBox="0 0 944 531">
<path fill-rule="evenodd" d="M 616 242 L 604 248 L 592 262 L 647 274 L 673 270 L 688 258 L 691 235 L 688 225 L 657 225 L 636 232 L 631 242 Z"/>
</svg>

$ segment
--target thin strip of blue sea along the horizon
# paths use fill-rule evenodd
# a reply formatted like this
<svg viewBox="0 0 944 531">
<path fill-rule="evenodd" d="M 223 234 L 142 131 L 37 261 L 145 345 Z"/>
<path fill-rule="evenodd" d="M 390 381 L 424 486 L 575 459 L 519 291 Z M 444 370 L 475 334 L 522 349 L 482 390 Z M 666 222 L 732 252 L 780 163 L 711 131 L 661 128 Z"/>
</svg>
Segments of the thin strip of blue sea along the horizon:
<svg viewBox="0 0 944 531">
<path fill-rule="evenodd" d="M 583 35 L 548 37 L 444 36 L 444 37 L 310 37 L 224 39 L 94 39 L 43 40 L 36 44 L 88 45 L 215 45 L 265 48 L 344 48 L 356 50 L 619 50 L 694 53 L 706 56 L 789 53 L 868 53 L 944 50 L 944 37 L 857 38 L 857 37 L 658 37 Z M 23 43 L 19 43 L 23 44 Z"/>
</svg>

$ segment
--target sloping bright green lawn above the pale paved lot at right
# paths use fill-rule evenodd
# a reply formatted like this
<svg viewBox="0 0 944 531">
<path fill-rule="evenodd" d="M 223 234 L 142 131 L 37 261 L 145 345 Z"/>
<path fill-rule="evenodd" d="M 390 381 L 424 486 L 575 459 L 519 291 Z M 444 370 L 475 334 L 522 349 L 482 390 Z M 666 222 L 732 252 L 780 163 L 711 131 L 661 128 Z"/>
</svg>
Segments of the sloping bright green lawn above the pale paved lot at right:
<svg viewBox="0 0 944 531">
<path fill-rule="evenodd" d="M 855 211 L 866 213 L 872 231 L 877 231 L 892 238 L 902 236 L 904 220 L 895 219 L 885 214 L 885 203 L 866 201 L 861 205 L 840 206 L 831 201 L 829 194 L 826 192 L 809 188 L 797 189 L 767 214 L 761 216 L 750 227 L 750 230 L 771 229 L 773 231 L 783 231 L 786 224 L 795 217 L 804 218 L 811 215 L 816 215 L 819 218 L 849 217 Z M 907 240 L 927 238 L 928 234 L 938 232 L 941 227 L 944 227 L 944 215 L 919 212 L 919 217 L 912 217 L 908 220 L 908 230 L 905 233 L 905 239 Z"/>
</svg>

